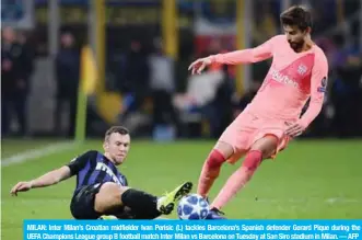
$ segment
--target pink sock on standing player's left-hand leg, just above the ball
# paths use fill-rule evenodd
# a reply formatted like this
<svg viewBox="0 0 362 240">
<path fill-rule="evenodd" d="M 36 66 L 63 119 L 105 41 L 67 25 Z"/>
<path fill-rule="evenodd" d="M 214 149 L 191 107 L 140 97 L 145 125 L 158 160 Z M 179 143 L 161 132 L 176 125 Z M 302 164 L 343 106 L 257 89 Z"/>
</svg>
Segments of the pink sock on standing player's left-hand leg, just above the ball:
<svg viewBox="0 0 362 240">
<path fill-rule="evenodd" d="M 222 163 L 225 162 L 225 158 L 218 150 L 213 149 L 205 161 L 201 174 L 199 178 L 197 193 L 203 197 L 207 197 L 213 182 L 219 176 Z"/>
</svg>

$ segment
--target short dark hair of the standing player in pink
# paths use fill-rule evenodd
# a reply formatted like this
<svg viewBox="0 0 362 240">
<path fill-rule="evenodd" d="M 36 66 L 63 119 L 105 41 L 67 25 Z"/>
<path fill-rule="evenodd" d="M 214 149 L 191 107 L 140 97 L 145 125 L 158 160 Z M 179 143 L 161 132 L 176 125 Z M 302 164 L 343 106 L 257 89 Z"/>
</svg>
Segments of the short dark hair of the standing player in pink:
<svg viewBox="0 0 362 240">
<path fill-rule="evenodd" d="M 280 14 L 282 25 L 297 26 L 301 31 L 312 27 L 312 13 L 303 5 L 293 5 Z"/>
</svg>

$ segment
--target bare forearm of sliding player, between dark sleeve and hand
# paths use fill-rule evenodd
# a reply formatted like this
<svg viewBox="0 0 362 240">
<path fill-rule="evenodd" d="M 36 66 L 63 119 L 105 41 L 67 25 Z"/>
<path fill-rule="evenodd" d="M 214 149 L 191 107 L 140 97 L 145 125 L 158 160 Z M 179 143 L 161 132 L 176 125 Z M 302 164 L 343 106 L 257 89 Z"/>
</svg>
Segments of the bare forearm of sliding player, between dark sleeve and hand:
<svg viewBox="0 0 362 240">
<path fill-rule="evenodd" d="M 57 184 L 66 179 L 70 178 L 70 169 L 68 167 L 61 167 L 60 169 L 47 172 L 46 174 L 30 181 L 31 187 L 45 187 Z"/>
</svg>

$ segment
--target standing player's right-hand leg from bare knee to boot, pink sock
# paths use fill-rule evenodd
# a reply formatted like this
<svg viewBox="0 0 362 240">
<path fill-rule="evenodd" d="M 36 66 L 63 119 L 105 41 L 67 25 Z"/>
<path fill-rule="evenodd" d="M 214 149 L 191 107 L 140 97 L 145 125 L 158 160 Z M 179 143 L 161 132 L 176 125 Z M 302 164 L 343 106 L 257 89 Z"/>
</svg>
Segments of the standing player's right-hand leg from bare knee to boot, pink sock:
<svg viewBox="0 0 362 240">
<path fill-rule="evenodd" d="M 252 146 L 242 167 L 229 178 L 225 185 L 211 204 L 212 210 L 207 219 L 222 218 L 220 209 L 252 179 L 262 159 L 269 158 L 277 146 L 278 139 L 273 136 L 266 136 Z"/>
</svg>

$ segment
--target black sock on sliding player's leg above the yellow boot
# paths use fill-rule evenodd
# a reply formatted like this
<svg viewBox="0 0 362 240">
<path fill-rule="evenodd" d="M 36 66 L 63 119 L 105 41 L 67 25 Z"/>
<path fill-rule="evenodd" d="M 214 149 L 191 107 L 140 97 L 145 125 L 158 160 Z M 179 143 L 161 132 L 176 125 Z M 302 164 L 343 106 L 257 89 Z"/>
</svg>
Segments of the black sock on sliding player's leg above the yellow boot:
<svg viewBox="0 0 362 240">
<path fill-rule="evenodd" d="M 138 219 L 153 219 L 161 214 L 157 210 L 157 197 L 142 191 L 129 188 L 120 196 L 125 206 L 131 208 Z"/>
</svg>

